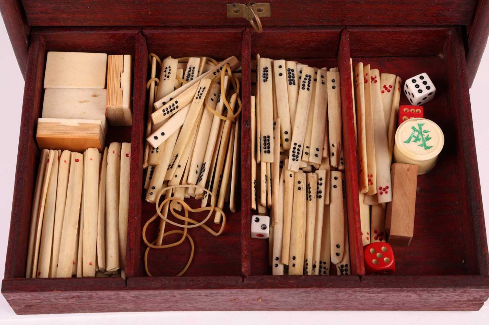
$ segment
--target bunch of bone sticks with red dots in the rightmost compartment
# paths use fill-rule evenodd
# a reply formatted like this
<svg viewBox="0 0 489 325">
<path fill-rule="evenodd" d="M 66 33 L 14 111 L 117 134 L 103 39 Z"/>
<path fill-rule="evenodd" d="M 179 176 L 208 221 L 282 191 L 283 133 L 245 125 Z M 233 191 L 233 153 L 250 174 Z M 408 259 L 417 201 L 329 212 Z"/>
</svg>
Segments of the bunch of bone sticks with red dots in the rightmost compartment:
<svg viewBox="0 0 489 325">
<path fill-rule="evenodd" d="M 363 70 L 363 71 L 362 71 Z M 363 75 L 362 75 L 363 73 Z M 362 244 L 385 241 L 385 204 L 393 198 L 391 179 L 402 80 L 370 64 L 355 67 Z M 364 88 L 363 96 L 361 88 Z M 364 107 L 361 101 L 364 101 Z M 359 114 L 364 114 L 364 123 Z M 362 133 L 365 132 L 363 150 Z M 366 157 L 366 172 L 365 160 Z M 367 177 L 367 186 L 364 178 Z M 364 191 L 366 188 L 367 191 Z M 363 194 L 364 193 L 364 194 Z"/>
</svg>

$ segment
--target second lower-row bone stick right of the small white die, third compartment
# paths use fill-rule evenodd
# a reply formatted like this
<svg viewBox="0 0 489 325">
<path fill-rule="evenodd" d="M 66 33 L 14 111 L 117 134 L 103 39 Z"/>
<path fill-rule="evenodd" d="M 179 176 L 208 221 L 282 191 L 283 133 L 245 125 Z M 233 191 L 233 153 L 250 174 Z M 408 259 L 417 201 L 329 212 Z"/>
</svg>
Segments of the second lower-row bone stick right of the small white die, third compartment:
<svg viewBox="0 0 489 325">
<path fill-rule="evenodd" d="M 286 159 L 284 166 L 289 164 Z M 284 167 L 284 225 L 282 238 L 282 264 L 289 265 L 289 248 L 290 248 L 290 227 L 292 223 L 292 205 L 294 203 L 294 172 Z"/>
</svg>

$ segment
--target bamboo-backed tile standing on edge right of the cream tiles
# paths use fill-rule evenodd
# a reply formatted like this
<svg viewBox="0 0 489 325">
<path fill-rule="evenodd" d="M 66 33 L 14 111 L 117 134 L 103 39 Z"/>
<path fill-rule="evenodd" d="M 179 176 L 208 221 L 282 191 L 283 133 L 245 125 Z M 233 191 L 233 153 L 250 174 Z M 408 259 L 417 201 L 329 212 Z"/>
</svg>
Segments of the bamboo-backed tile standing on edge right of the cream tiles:
<svg viewBox="0 0 489 325">
<path fill-rule="evenodd" d="M 109 55 L 105 114 L 112 126 L 130 126 L 133 124 L 132 64 L 131 55 Z"/>
</svg>

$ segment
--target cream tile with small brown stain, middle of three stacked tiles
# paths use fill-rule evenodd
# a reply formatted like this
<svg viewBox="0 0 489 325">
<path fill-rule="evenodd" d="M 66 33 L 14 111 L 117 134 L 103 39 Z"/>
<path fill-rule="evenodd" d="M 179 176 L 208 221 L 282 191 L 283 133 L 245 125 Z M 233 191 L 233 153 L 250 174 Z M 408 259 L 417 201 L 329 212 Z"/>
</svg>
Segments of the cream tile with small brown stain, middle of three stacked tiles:
<svg viewBox="0 0 489 325">
<path fill-rule="evenodd" d="M 100 120 L 105 118 L 106 89 L 49 88 L 44 91 L 43 118 Z"/>
</svg>

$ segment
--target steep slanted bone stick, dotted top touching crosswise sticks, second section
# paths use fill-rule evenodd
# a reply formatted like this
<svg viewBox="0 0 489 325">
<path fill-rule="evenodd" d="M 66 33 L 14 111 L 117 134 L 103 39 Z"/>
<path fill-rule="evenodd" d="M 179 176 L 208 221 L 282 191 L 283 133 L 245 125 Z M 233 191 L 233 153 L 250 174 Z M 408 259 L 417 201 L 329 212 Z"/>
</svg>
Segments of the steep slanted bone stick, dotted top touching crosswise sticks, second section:
<svg viewBox="0 0 489 325">
<path fill-rule="evenodd" d="M 175 148 L 172 153 L 172 163 L 173 166 L 170 167 L 168 173 L 170 173 L 170 178 L 175 177 L 176 169 L 180 164 L 180 159 L 182 158 L 182 153 L 185 148 L 185 145 L 189 142 L 190 134 L 195 126 L 200 121 L 200 117 L 202 116 L 202 108 L 205 100 L 205 96 L 209 91 L 211 81 L 209 79 L 203 79 L 200 81 L 197 89 L 197 93 L 192 101 L 192 105 L 188 111 L 185 122 L 182 125 L 180 133 L 178 134 L 177 142 L 175 143 Z M 182 162 L 186 163 L 186 162 Z M 167 175 L 168 176 L 168 175 Z"/>
</svg>

